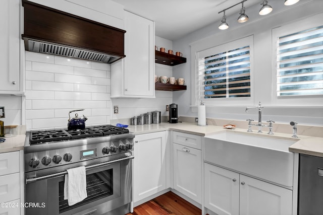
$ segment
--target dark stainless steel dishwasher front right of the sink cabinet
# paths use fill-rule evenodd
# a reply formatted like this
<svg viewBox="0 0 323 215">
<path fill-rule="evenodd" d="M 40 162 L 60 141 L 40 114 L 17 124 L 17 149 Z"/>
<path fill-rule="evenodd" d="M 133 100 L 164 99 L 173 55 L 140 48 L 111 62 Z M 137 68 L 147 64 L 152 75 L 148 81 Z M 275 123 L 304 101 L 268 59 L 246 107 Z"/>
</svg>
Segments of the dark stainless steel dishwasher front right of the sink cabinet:
<svg viewBox="0 0 323 215">
<path fill-rule="evenodd" d="M 323 158 L 299 156 L 298 214 L 323 214 Z"/>
</svg>

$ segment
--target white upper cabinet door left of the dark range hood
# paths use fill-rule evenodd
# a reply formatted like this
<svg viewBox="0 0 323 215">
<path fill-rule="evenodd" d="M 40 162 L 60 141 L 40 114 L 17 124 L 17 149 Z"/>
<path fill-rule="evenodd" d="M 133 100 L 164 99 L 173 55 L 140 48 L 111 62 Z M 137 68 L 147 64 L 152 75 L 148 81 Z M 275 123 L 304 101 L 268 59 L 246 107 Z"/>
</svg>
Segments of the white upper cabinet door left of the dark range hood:
<svg viewBox="0 0 323 215">
<path fill-rule="evenodd" d="M 4 0 L 0 7 L 0 94 L 20 91 L 20 1 Z"/>
</svg>

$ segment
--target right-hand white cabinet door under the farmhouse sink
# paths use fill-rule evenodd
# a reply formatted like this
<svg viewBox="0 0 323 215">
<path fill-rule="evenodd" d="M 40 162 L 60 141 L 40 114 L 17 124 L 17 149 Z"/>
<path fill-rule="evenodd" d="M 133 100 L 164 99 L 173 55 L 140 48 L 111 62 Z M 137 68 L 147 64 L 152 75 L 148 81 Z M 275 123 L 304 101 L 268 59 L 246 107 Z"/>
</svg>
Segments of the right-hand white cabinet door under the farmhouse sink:
<svg viewBox="0 0 323 215">
<path fill-rule="evenodd" d="M 240 175 L 240 215 L 292 214 L 292 191 Z"/>
</svg>

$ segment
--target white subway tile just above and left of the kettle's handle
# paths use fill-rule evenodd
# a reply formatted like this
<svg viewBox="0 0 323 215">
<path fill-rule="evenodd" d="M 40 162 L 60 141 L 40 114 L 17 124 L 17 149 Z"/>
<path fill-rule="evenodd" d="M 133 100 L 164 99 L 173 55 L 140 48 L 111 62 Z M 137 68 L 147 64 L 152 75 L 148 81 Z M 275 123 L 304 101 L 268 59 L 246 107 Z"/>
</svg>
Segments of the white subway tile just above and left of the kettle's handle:
<svg viewBox="0 0 323 215">
<path fill-rule="evenodd" d="M 73 109 L 74 101 L 65 100 L 32 100 L 32 109 Z"/>
</svg>

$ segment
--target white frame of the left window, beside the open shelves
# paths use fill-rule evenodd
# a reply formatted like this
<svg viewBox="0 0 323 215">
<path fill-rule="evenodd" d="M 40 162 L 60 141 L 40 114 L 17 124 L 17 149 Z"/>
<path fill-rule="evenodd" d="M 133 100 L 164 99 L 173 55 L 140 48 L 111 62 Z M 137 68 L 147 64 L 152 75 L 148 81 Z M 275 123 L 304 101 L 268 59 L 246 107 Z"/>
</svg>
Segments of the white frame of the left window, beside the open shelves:
<svg viewBox="0 0 323 215">
<path fill-rule="evenodd" d="M 200 98 L 198 95 L 197 77 L 198 77 L 198 59 L 210 56 L 217 53 L 222 53 L 224 51 L 233 50 L 236 48 L 241 48 L 244 46 L 249 46 L 250 48 L 250 97 L 230 97 L 230 98 Z M 193 51 L 192 51 L 193 52 Z M 203 100 L 204 104 L 207 106 L 241 106 L 253 104 L 254 100 L 254 75 L 253 75 L 253 35 L 240 38 L 225 44 L 220 44 L 217 46 L 209 47 L 203 50 L 195 50 L 192 57 L 192 105 L 198 105 Z M 194 62 L 193 62 L 194 61 Z M 193 69 L 194 68 L 194 69 Z M 194 74 L 193 74 L 194 73 Z"/>
</svg>

